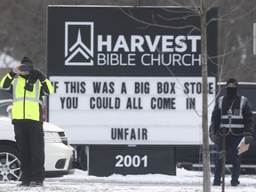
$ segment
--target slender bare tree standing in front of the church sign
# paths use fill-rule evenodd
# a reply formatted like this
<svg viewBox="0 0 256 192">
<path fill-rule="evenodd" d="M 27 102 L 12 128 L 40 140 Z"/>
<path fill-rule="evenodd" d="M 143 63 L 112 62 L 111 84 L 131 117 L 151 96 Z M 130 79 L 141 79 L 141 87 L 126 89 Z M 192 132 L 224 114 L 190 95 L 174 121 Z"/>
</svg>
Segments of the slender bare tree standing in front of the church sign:
<svg viewBox="0 0 256 192">
<path fill-rule="evenodd" d="M 179 5 L 184 7 L 184 5 L 177 3 L 175 1 L 170 1 L 172 4 Z M 140 20 L 132 15 L 131 12 L 124 12 L 127 16 L 132 18 L 132 20 L 137 20 L 141 23 L 143 23 L 146 26 L 155 26 L 160 28 L 172 28 L 172 29 L 178 29 L 178 28 L 191 28 L 191 33 L 193 30 L 199 30 L 201 33 L 201 55 L 202 55 L 202 84 L 203 84 L 203 108 L 202 108 L 202 130 L 203 130 L 203 167 L 204 167 L 204 191 L 210 192 L 211 191 L 211 170 L 210 170 L 210 149 L 209 149 L 209 137 L 208 137 L 208 53 L 207 53 L 207 21 L 206 21 L 206 12 L 208 9 L 205 7 L 204 0 L 200 0 L 200 4 L 195 4 L 195 2 L 191 1 L 192 6 L 187 7 L 188 9 L 188 17 L 194 17 L 195 15 L 200 17 L 201 20 L 201 28 L 196 28 L 196 26 L 182 26 L 182 27 L 176 27 L 176 26 L 166 26 L 163 24 L 159 24 L 156 22 L 155 17 L 152 16 L 152 21 L 146 21 L 146 20 Z M 122 9 L 121 9 L 122 10 Z M 168 12 L 168 11 L 167 11 Z M 170 12 L 170 11 L 169 11 Z M 168 20 L 167 18 L 164 18 Z M 180 20 L 179 17 L 172 18 L 169 20 Z M 161 52 L 161 50 L 160 50 Z M 168 68 L 169 71 L 172 73 L 172 69 Z M 172 73 L 172 76 L 175 76 L 175 74 Z M 201 116 L 201 115 L 200 115 Z"/>
</svg>

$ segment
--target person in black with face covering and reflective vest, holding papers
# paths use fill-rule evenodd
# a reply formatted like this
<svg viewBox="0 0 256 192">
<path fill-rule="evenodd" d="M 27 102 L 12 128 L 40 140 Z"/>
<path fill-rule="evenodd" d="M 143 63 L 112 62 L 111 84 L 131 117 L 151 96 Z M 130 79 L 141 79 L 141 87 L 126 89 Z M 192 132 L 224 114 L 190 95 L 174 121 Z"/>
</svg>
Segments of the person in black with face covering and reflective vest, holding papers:
<svg viewBox="0 0 256 192">
<path fill-rule="evenodd" d="M 227 93 L 217 100 L 212 111 L 212 129 L 210 137 L 216 144 L 215 173 L 213 186 L 220 186 L 222 174 L 222 142 L 225 134 L 226 151 L 230 150 L 232 161 L 231 186 L 239 185 L 241 169 L 241 155 L 237 155 L 237 146 L 245 137 L 245 143 L 253 141 L 253 115 L 252 106 L 245 97 L 237 92 L 238 82 L 236 78 L 227 81 Z M 214 139 L 212 138 L 214 136 Z M 218 140 L 216 140 L 218 138 Z"/>
</svg>

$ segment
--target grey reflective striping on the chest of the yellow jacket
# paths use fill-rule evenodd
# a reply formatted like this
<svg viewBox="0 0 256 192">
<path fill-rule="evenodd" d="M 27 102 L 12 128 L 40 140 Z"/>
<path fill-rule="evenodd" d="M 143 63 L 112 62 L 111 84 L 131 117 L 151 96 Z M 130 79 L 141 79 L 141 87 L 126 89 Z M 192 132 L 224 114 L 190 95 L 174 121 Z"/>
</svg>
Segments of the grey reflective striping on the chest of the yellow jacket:
<svg viewBox="0 0 256 192">
<path fill-rule="evenodd" d="M 13 81 L 13 90 L 14 92 L 16 91 L 17 89 L 17 84 L 18 84 L 18 79 L 14 79 Z M 39 81 L 36 81 L 36 84 L 34 86 L 34 88 L 36 89 L 36 93 L 35 93 L 35 98 L 31 98 L 31 97 L 25 97 L 25 100 L 30 100 L 30 101 L 34 101 L 34 102 L 37 102 L 37 103 L 40 103 L 41 105 L 43 105 L 43 102 L 42 100 L 39 100 L 39 96 L 40 96 L 40 86 L 39 86 Z M 21 100 L 24 100 L 24 97 L 16 97 L 16 94 L 14 93 L 13 94 L 13 102 L 17 102 L 17 101 L 21 101 Z"/>
</svg>

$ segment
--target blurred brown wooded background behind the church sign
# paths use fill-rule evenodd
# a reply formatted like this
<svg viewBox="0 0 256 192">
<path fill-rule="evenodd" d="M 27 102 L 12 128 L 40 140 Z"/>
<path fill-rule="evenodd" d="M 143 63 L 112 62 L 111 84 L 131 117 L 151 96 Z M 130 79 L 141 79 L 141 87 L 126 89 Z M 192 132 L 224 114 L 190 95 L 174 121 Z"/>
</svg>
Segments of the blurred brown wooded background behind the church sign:
<svg viewBox="0 0 256 192">
<path fill-rule="evenodd" d="M 29 55 L 37 67 L 46 70 L 48 4 L 199 6 L 199 3 L 199 0 L 3 0 L 0 4 L 0 51 L 16 60 Z M 205 3 L 207 9 L 212 6 L 219 8 L 219 60 L 224 60 L 225 55 L 221 79 L 239 76 L 239 81 L 253 82 L 256 79 L 255 56 L 252 55 L 252 23 L 256 17 L 254 1 L 207 0 Z M 227 45 L 224 46 L 223 42 Z"/>
</svg>

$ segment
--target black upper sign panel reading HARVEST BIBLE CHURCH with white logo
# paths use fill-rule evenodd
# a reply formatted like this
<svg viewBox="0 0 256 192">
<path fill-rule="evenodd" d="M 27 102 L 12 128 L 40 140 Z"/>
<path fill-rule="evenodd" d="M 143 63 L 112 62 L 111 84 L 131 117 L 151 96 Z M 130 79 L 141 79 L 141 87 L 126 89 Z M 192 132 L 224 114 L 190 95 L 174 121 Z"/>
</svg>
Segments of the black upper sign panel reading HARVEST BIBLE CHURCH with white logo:
<svg viewBox="0 0 256 192">
<path fill-rule="evenodd" d="M 201 76 L 200 44 L 200 18 L 184 8 L 48 8 L 49 76 Z M 217 21 L 208 25 L 208 54 L 217 55 Z"/>
</svg>

